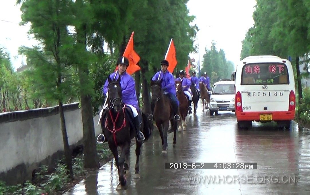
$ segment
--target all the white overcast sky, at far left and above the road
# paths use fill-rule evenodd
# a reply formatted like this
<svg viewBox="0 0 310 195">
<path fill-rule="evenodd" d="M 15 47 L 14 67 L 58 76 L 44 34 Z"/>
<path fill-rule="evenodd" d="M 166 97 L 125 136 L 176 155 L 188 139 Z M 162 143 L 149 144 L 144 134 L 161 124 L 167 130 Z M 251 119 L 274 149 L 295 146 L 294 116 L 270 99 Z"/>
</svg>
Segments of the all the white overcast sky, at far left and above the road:
<svg viewBox="0 0 310 195">
<path fill-rule="evenodd" d="M 20 6 L 15 6 L 15 2 L 0 0 L 0 47 L 5 47 L 10 53 L 16 69 L 25 60 L 18 56 L 18 48 L 22 45 L 31 46 L 36 42 L 28 38 L 29 25 L 18 25 L 21 21 Z M 190 15 L 196 16 L 194 23 L 200 29 L 196 42 L 199 42 L 200 58 L 202 59 L 205 47 L 210 48 L 211 41 L 215 40 L 216 47 L 224 49 L 227 60 L 236 66 L 240 60 L 241 41 L 254 24 L 252 15 L 255 5 L 255 0 L 190 0 L 187 4 Z M 198 54 L 190 56 L 198 59 Z"/>
</svg>

